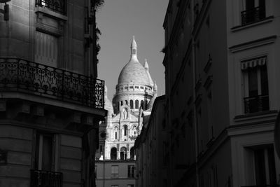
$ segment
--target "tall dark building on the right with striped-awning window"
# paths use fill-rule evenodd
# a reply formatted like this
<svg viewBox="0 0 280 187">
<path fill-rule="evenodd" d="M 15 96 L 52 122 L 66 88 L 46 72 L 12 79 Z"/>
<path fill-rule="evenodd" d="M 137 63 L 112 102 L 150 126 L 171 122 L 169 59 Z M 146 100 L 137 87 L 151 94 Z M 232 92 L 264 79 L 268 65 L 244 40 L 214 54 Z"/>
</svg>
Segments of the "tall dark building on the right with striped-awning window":
<svg viewBox="0 0 280 187">
<path fill-rule="evenodd" d="M 169 1 L 167 186 L 276 186 L 279 1 Z"/>
</svg>

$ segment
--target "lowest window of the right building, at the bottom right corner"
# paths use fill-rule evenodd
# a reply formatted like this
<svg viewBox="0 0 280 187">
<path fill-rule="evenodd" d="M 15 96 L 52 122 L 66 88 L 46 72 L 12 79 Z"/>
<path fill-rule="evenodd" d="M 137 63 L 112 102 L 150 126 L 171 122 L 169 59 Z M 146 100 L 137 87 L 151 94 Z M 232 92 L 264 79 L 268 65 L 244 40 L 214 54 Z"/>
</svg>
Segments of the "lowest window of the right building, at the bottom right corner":
<svg viewBox="0 0 280 187">
<path fill-rule="evenodd" d="M 255 186 L 276 186 L 274 147 L 272 144 L 246 148 L 246 178 Z"/>
</svg>

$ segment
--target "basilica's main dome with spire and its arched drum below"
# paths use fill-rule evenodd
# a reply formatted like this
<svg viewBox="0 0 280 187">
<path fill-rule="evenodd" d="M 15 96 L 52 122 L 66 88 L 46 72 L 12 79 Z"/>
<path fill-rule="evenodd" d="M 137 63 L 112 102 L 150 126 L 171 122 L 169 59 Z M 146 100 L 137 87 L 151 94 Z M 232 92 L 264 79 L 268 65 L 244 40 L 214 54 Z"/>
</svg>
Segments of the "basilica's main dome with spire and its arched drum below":
<svg viewBox="0 0 280 187">
<path fill-rule="evenodd" d="M 146 109 L 153 97 L 153 81 L 148 71 L 148 62 L 141 64 L 137 59 L 137 43 L 134 36 L 130 50 L 130 61 L 120 71 L 116 95 L 113 97 L 116 114 L 124 104 L 130 106 L 132 112 L 138 113 L 140 106 Z"/>
</svg>

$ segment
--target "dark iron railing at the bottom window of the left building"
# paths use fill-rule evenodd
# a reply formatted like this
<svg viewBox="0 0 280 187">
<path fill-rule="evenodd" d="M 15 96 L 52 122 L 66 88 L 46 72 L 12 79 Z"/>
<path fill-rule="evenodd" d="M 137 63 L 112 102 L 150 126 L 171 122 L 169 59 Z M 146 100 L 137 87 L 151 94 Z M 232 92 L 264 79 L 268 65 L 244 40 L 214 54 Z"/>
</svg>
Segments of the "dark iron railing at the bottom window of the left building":
<svg viewBox="0 0 280 187">
<path fill-rule="evenodd" d="M 31 187 L 62 187 L 62 173 L 41 170 L 30 171 Z"/>
</svg>

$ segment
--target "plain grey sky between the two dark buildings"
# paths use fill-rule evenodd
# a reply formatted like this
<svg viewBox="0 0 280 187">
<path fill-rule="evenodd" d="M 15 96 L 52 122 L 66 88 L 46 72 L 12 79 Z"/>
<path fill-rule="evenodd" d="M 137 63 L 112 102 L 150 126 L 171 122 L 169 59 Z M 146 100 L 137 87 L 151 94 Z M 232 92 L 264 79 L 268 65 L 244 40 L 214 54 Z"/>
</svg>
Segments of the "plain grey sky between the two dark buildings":
<svg viewBox="0 0 280 187">
<path fill-rule="evenodd" d="M 98 78 L 105 81 L 108 97 L 113 99 L 118 76 L 130 60 L 132 36 L 137 42 L 141 64 L 147 59 L 151 77 L 158 85 L 158 95 L 165 94 L 165 68 L 162 64 L 164 29 L 168 0 L 104 0 L 97 12 L 97 27 L 102 32 L 98 55 Z"/>
</svg>

